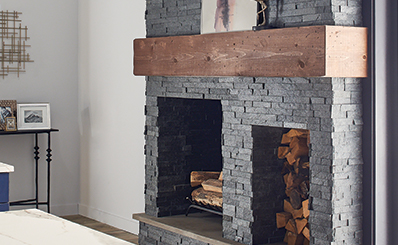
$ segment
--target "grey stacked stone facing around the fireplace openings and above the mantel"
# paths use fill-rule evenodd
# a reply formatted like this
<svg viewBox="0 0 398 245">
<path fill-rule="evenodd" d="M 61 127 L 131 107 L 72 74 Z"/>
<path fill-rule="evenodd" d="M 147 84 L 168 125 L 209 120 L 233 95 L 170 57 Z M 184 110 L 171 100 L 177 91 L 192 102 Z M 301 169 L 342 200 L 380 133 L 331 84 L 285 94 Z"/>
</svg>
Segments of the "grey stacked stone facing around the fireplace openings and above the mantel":
<svg viewBox="0 0 398 245">
<path fill-rule="evenodd" d="M 269 23 L 277 27 L 362 23 L 360 0 L 270 0 L 269 5 Z M 200 7 L 200 0 L 147 0 L 148 37 L 199 34 Z M 362 244 L 361 91 L 361 81 L 351 78 L 148 77 L 147 214 L 164 215 L 160 203 L 173 206 L 159 196 L 159 170 L 165 171 L 159 163 L 159 99 L 218 100 L 223 117 L 224 236 L 258 244 L 253 127 L 268 126 L 311 131 L 311 244 Z M 140 244 L 169 244 L 162 232 L 148 227 L 141 224 Z M 173 244 L 185 244 L 177 240 Z"/>
</svg>

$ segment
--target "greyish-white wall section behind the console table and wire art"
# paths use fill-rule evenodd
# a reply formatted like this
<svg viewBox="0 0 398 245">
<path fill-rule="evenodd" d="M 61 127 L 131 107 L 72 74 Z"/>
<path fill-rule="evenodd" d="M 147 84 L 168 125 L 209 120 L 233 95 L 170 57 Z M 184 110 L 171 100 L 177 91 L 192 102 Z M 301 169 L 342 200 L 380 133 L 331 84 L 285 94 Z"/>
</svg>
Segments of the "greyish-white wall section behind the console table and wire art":
<svg viewBox="0 0 398 245">
<path fill-rule="evenodd" d="M 26 64 L 27 71 L 19 78 L 0 78 L 0 99 L 50 103 L 52 126 L 60 129 L 52 137 L 51 205 L 52 212 L 61 215 L 76 213 L 79 201 L 77 7 L 77 0 L 1 1 L 2 10 L 22 12 L 34 63 Z M 46 144 L 40 147 L 40 164 L 45 167 Z M 15 166 L 10 176 L 10 199 L 32 198 L 33 137 L 1 136 L 0 161 Z M 40 179 L 45 181 L 45 175 Z M 40 197 L 44 198 L 45 186 L 40 187 Z"/>
</svg>

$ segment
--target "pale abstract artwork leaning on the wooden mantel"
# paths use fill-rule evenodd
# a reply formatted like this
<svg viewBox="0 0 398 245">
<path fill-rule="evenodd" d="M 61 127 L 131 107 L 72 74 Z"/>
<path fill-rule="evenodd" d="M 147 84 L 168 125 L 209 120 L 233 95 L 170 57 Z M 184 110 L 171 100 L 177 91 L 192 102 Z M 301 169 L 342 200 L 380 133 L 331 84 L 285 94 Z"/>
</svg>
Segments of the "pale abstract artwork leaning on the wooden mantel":
<svg viewBox="0 0 398 245">
<path fill-rule="evenodd" d="M 202 0 L 202 34 L 251 30 L 256 25 L 255 0 Z"/>
</svg>

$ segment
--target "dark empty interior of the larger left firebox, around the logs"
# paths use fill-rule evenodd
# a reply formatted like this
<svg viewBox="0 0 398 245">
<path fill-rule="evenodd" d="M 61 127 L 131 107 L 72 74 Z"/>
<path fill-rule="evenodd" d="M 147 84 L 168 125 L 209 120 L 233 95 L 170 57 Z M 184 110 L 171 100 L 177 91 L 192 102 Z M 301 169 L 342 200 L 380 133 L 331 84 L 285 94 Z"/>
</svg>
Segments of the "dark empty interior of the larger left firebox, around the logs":
<svg viewBox="0 0 398 245">
<path fill-rule="evenodd" d="M 184 214 L 192 171 L 221 171 L 221 102 L 158 98 L 158 217 Z"/>
</svg>

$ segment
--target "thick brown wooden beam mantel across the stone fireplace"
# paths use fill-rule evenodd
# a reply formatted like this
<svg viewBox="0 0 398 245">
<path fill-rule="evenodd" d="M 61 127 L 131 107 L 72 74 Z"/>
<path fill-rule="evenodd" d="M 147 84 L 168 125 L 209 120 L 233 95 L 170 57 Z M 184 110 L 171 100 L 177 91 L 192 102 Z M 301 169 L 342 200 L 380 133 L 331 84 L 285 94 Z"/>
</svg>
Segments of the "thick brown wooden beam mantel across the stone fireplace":
<svg viewBox="0 0 398 245">
<path fill-rule="evenodd" d="M 366 77 L 367 29 L 308 26 L 135 39 L 134 74 Z"/>
</svg>

